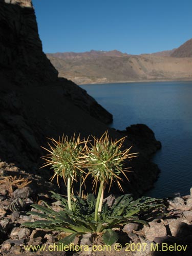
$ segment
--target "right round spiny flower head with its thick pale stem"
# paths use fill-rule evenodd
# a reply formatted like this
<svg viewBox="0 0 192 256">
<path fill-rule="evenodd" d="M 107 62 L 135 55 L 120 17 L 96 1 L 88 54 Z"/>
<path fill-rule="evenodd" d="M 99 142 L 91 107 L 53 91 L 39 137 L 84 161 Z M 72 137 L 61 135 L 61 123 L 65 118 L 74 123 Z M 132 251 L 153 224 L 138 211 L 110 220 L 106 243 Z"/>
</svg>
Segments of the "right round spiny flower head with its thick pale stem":
<svg viewBox="0 0 192 256">
<path fill-rule="evenodd" d="M 86 153 L 83 154 L 86 160 L 85 166 L 89 169 L 86 178 L 91 175 L 93 177 L 93 188 L 97 189 L 97 184 L 100 182 L 96 207 L 95 207 L 95 221 L 98 221 L 98 215 L 102 210 L 103 194 L 106 184 L 109 185 L 109 190 L 113 181 L 121 191 L 123 191 L 119 177 L 122 174 L 128 181 L 125 172 L 129 172 L 128 168 L 123 169 L 123 162 L 125 159 L 136 157 L 138 153 L 130 153 L 131 147 L 122 150 L 123 142 L 126 137 L 114 141 L 109 138 L 108 131 L 106 131 L 100 139 L 93 137 L 94 144 L 91 147 L 87 144 L 85 146 Z M 85 178 L 85 179 L 86 179 Z"/>
</svg>

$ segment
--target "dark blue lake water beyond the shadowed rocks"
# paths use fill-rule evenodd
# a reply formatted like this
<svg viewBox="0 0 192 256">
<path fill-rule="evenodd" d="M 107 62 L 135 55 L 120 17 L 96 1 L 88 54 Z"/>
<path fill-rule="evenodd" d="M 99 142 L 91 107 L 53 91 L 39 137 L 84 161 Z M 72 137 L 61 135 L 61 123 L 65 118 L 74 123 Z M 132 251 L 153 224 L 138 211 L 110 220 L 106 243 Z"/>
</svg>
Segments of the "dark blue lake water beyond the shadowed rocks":
<svg viewBox="0 0 192 256">
<path fill-rule="evenodd" d="M 151 197 L 188 195 L 192 187 L 192 82 L 134 82 L 83 85 L 113 114 L 112 127 L 148 125 L 162 143 L 153 157 L 161 169 Z"/>
</svg>

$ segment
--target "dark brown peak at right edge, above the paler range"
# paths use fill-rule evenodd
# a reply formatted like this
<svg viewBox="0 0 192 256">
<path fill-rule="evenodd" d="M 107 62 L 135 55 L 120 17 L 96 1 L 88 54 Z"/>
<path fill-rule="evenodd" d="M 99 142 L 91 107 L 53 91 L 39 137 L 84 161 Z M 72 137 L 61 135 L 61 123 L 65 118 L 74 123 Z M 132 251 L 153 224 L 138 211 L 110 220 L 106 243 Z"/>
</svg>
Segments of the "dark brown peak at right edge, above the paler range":
<svg viewBox="0 0 192 256">
<path fill-rule="evenodd" d="M 177 48 L 170 56 L 177 58 L 192 57 L 192 38 Z"/>
</svg>

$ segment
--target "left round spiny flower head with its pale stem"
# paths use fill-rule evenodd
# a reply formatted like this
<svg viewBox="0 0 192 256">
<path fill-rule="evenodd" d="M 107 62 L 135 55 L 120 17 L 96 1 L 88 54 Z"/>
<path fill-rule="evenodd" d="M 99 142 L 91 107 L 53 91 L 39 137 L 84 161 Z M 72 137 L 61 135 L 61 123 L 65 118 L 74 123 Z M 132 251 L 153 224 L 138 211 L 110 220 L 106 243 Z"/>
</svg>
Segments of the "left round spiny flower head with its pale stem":
<svg viewBox="0 0 192 256">
<path fill-rule="evenodd" d="M 49 138 L 50 139 L 50 138 Z M 67 194 L 68 194 L 68 207 L 71 207 L 71 185 L 73 180 L 76 180 L 77 176 L 82 177 L 84 160 L 81 158 L 83 152 L 83 145 L 86 143 L 85 140 L 80 140 L 80 135 L 75 139 L 68 138 L 68 136 L 62 136 L 61 140 L 58 141 L 51 138 L 52 145 L 48 142 L 49 149 L 44 148 L 50 154 L 41 157 L 46 160 L 42 167 L 51 165 L 54 170 L 54 175 L 51 181 L 57 177 L 57 184 L 59 186 L 59 176 L 63 178 L 63 181 L 67 182 Z"/>
</svg>

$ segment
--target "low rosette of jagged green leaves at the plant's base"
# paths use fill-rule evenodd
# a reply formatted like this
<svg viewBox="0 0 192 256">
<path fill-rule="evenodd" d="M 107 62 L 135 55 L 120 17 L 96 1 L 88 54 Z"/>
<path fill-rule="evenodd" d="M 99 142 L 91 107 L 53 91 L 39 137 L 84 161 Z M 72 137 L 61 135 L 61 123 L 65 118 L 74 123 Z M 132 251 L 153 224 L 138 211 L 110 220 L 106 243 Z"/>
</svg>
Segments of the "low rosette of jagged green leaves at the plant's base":
<svg viewBox="0 0 192 256">
<path fill-rule="evenodd" d="M 68 208 L 65 197 L 53 191 L 52 194 L 52 198 L 59 201 L 61 210 L 55 211 L 48 204 L 46 206 L 34 204 L 32 206 L 40 212 L 29 211 L 28 214 L 42 219 L 26 222 L 23 226 L 66 232 L 69 236 L 59 241 L 63 245 L 72 243 L 75 236 L 88 232 L 96 236 L 102 234 L 103 242 L 112 245 L 118 239 L 117 232 L 113 228 L 122 228 L 125 224 L 133 222 L 147 224 L 148 219 L 162 216 L 161 200 L 148 197 L 133 200 L 131 195 L 123 195 L 118 197 L 112 206 L 105 202 L 96 222 L 94 220 L 96 199 L 93 194 L 89 194 L 86 199 L 74 196 L 72 210 Z"/>
</svg>

